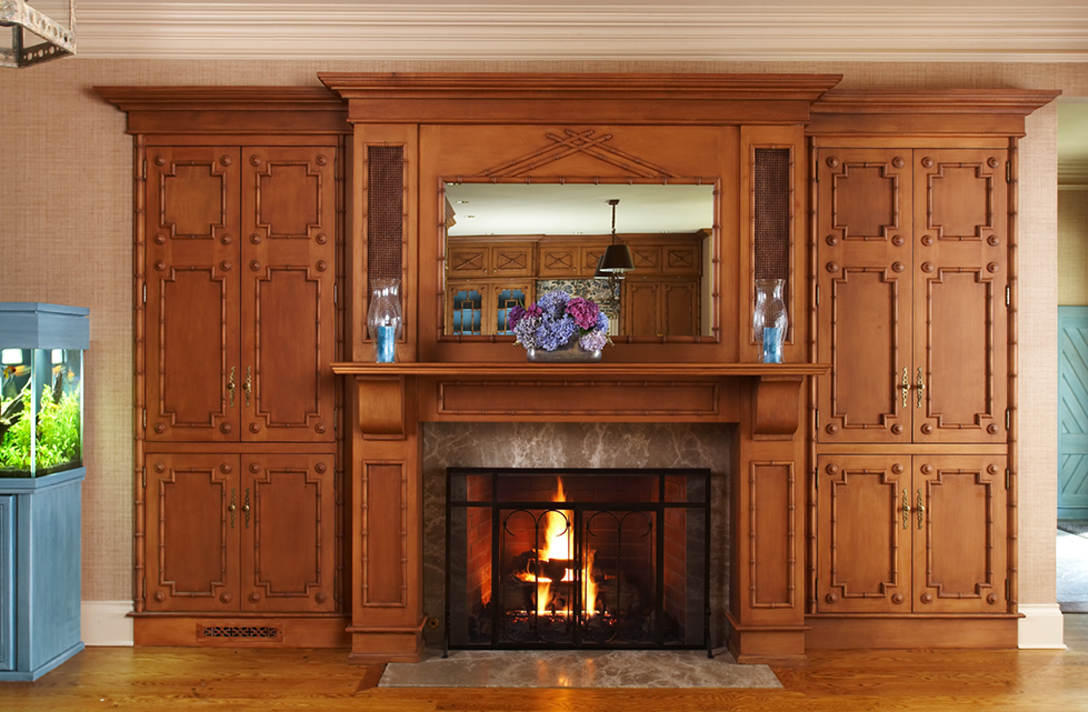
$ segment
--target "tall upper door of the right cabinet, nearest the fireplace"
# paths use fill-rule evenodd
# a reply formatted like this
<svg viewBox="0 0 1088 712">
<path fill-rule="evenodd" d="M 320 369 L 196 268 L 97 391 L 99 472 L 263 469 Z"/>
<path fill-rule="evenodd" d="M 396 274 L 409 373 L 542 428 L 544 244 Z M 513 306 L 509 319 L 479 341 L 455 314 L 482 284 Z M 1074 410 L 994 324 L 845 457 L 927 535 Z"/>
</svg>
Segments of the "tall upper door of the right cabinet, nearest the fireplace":
<svg viewBox="0 0 1088 712">
<path fill-rule="evenodd" d="M 821 149 L 817 214 L 820 442 L 910 442 L 911 151 Z"/>
</svg>

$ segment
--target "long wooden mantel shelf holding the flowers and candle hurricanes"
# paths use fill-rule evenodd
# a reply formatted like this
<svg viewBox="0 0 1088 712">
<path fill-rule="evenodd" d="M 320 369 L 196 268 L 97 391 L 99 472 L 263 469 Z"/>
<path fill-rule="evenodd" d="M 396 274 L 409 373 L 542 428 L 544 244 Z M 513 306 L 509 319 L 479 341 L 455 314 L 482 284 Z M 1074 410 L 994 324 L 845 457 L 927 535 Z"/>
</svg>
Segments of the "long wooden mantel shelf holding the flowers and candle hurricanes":
<svg viewBox="0 0 1088 712">
<path fill-rule="evenodd" d="M 339 376 L 438 376 L 466 378 L 533 378 L 533 377 L 654 377 L 671 379 L 728 377 L 803 377 L 819 376 L 828 364 L 530 364 L 483 361 L 341 361 L 332 365 Z"/>
</svg>

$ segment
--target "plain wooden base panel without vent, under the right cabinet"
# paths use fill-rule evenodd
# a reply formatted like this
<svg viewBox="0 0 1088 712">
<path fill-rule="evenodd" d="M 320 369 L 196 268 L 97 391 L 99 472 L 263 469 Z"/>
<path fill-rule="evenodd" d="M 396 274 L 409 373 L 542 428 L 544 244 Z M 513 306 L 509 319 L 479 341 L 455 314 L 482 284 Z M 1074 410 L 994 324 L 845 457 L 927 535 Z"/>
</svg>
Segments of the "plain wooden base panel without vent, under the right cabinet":
<svg viewBox="0 0 1088 712">
<path fill-rule="evenodd" d="M 1015 649 L 1019 616 L 808 616 L 807 650 Z"/>
</svg>

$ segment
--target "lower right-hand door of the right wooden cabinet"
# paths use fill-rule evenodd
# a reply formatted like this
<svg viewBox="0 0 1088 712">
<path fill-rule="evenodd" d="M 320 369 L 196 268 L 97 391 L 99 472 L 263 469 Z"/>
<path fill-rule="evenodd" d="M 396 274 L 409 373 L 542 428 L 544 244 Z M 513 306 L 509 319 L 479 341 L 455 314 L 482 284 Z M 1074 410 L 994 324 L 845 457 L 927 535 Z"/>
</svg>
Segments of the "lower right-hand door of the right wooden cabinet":
<svg viewBox="0 0 1088 712">
<path fill-rule="evenodd" d="M 1004 458 L 919 455 L 914 465 L 915 613 L 1003 613 Z"/>
</svg>

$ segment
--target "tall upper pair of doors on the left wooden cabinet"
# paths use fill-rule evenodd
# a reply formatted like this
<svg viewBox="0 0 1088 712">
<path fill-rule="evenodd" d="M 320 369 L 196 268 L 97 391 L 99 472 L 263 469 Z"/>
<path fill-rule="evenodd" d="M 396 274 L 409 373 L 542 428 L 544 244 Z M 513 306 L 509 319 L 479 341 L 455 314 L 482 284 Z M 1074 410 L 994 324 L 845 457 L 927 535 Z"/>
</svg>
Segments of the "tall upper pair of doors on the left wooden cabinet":
<svg viewBox="0 0 1088 712">
<path fill-rule="evenodd" d="M 333 442 L 334 159 L 148 150 L 148 441 Z"/>
</svg>

